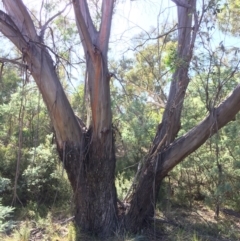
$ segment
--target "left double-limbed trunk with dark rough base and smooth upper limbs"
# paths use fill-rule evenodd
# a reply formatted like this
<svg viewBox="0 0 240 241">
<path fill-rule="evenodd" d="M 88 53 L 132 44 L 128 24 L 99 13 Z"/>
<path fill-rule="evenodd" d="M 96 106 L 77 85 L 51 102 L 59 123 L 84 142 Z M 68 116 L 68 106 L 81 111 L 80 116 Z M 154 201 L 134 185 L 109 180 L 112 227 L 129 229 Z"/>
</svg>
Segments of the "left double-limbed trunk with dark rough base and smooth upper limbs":
<svg viewBox="0 0 240 241">
<path fill-rule="evenodd" d="M 104 1 L 102 24 L 97 32 L 86 1 L 73 1 L 87 60 L 86 94 L 91 108 L 88 130 L 75 117 L 43 44 L 46 26 L 42 36 L 38 36 L 21 0 L 4 1 L 9 15 L 0 11 L 1 32 L 22 52 L 48 108 L 58 152 L 74 191 L 76 224 L 83 231 L 100 236 L 109 235 L 117 227 L 116 160 L 107 68 L 113 2 Z"/>
</svg>

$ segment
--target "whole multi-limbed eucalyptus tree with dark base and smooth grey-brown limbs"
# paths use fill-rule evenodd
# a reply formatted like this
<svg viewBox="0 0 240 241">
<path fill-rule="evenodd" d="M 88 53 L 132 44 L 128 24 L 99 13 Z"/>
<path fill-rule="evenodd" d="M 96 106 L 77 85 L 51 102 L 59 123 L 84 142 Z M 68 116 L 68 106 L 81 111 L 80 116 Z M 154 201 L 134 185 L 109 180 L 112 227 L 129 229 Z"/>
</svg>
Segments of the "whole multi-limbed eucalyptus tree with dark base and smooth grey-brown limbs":
<svg viewBox="0 0 240 241">
<path fill-rule="evenodd" d="M 44 33 L 53 18 L 40 23 L 22 0 L 3 0 L 0 31 L 22 54 L 47 106 L 58 152 L 74 191 L 75 221 L 84 231 L 106 236 L 118 228 L 138 231 L 154 215 L 161 181 L 186 156 L 231 121 L 240 110 L 240 85 L 193 129 L 176 138 L 188 87 L 195 40 L 208 4 L 174 0 L 177 8 L 177 50 L 170 92 L 152 146 L 137 173 L 125 210 L 118 212 L 114 184 L 115 148 L 112 129 L 108 44 L 114 0 L 102 1 L 96 28 L 87 0 L 73 0 L 75 23 L 86 60 L 85 95 L 89 105 L 86 124 L 79 120 L 64 93 Z M 212 1 L 210 1 L 212 2 Z M 59 12 L 61 14 L 61 12 Z"/>
</svg>

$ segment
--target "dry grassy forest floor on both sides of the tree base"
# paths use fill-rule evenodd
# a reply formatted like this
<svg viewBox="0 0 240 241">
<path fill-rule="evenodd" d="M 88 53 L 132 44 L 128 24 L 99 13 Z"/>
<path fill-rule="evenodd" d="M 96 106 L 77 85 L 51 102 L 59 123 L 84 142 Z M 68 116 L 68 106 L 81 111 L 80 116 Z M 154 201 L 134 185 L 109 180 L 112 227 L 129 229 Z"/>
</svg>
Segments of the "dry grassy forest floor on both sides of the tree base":
<svg viewBox="0 0 240 241">
<path fill-rule="evenodd" d="M 78 233 L 78 235 L 77 235 Z M 51 212 L 46 218 L 20 221 L 9 235 L 0 234 L 2 241 L 97 241 L 79 234 L 72 217 L 66 212 Z M 76 238 L 78 236 L 78 238 Z M 218 218 L 203 205 L 193 208 L 171 207 L 157 212 L 151 228 L 141 234 L 116 234 L 107 241 L 240 241 L 240 213 L 222 209 Z"/>
</svg>

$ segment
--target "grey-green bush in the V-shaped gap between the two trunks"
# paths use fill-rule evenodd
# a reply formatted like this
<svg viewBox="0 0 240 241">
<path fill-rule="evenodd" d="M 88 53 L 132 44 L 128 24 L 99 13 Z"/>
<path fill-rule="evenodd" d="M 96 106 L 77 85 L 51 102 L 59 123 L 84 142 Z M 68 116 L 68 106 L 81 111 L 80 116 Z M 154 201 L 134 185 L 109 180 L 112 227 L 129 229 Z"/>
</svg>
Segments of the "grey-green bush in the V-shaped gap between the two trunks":
<svg viewBox="0 0 240 241">
<path fill-rule="evenodd" d="M 135 99 L 116 116 L 117 172 L 131 178 L 143 160 L 156 131 L 160 114 L 151 111 L 144 99 Z M 119 131 L 120 130 L 120 131 Z M 120 132 L 120 133 L 119 133 Z"/>
</svg>

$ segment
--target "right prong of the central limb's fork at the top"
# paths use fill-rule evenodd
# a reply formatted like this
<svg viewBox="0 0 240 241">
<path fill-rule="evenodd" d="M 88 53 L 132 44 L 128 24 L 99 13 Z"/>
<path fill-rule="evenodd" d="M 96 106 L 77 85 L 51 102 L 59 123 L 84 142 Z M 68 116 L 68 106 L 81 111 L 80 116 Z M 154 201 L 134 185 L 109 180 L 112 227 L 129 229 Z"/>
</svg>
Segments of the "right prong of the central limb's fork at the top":
<svg viewBox="0 0 240 241">
<path fill-rule="evenodd" d="M 114 0 L 102 2 L 102 19 L 99 33 L 99 44 L 102 53 L 106 54 L 111 31 Z"/>
</svg>

